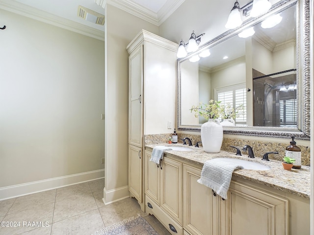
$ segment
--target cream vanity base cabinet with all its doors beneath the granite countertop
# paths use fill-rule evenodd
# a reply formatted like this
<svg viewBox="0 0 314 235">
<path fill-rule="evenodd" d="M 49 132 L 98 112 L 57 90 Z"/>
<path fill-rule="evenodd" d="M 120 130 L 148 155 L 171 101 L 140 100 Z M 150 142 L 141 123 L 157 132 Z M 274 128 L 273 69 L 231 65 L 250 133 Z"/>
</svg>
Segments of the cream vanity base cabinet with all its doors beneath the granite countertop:
<svg viewBox="0 0 314 235">
<path fill-rule="evenodd" d="M 310 200 L 233 177 L 228 199 L 197 183 L 202 166 L 171 155 L 161 168 L 145 150 L 146 212 L 171 234 L 295 235 L 310 233 Z M 172 226 L 177 232 L 172 232 Z"/>
</svg>

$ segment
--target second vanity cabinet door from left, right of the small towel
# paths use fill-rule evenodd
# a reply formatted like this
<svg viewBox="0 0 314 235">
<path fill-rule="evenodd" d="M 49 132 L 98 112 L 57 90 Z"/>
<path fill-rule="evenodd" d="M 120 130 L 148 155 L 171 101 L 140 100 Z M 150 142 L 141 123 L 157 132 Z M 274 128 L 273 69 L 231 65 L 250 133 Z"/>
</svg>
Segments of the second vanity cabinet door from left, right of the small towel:
<svg viewBox="0 0 314 235">
<path fill-rule="evenodd" d="M 182 164 L 164 158 L 160 173 L 160 207 L 182 225 Z"/>
</svg>

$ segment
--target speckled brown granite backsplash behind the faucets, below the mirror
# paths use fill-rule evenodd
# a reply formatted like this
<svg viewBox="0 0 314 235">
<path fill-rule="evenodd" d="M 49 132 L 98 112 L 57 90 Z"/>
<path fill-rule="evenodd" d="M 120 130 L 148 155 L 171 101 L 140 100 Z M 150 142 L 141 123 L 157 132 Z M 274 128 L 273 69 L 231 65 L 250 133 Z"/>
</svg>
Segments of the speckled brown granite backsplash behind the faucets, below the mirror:
<svg viewBox="0 0 314 235">
<path fill-rule="evenodd" d="M 158 144 L 158 143 L 168 143 L 169 137 L 172 136 L 172 133 L 168 134 L 156 134 L 156 135 L 145 135 L 145 145 L 148 144 Z M 200 135 L 190 135 L 190 134 L 180 134 L 178 133 L 178 143 L 183 143 L 182 139 L 188 137 L 191 139 L 193 145 L 196 142 L 201 141 Z M 265 138 L 266 140 L 267 138 Z M 242 155 L 247 155 L 245 151 L 242 151 L 244 145 L 250 145 L 253 148 L 255 156 L 262 158 L 266 152 L 278 152 L 279 154 L 269 154 L 268 157 L 271 160 L 282 161 L 285 156 L 285 150 L 288 146 L 287 143 L 274 143 L 267 141 L 252 141 L 252 140 L 238 140 L 238 139 L 229 139 L 224 138 L 222 141 L 221 150 L 228 152 L 235 152 L 235 149 L 230 146 L 238 147 L 241 150 Z M 302 165 L 310 165 L 310 147 L 302 146 L 297 144 L 301 148 L 302 153 Z M 202 144 L 200 144 L 202 146 Z"/>
</svg>

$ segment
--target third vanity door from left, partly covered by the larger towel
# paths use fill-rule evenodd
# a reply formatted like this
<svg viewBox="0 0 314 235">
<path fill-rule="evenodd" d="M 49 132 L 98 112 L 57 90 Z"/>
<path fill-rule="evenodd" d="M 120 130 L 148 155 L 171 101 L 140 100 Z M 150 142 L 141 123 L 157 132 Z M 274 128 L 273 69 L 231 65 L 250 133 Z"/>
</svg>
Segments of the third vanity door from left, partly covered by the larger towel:
<svg viewBox="0 0 314 235">
<path fill-rule="evenodd" d="M 213 235 L 212 200 L 216 198 L 210 188 L 197 183 L 200 178 L 200 169 L 183 164 L 183 228 L 193 235 Z"/>
</svg>

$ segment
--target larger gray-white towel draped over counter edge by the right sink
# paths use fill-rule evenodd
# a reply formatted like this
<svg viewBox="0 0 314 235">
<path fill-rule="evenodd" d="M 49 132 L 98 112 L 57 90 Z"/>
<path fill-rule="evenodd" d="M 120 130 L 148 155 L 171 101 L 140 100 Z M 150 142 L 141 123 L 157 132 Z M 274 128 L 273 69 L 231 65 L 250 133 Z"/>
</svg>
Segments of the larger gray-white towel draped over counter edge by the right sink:
<svg viewBox="0 0 314 235">
<path fill-rule="evenodd" d="M 223 159 L 212 159 L 203 165 L 201 179 L 197 182 L 213 189 L 222 198 L 227 199 L 232 173 L 243 166 L 228 163 Z"/>
</svg>

